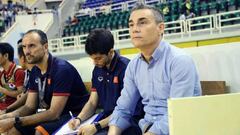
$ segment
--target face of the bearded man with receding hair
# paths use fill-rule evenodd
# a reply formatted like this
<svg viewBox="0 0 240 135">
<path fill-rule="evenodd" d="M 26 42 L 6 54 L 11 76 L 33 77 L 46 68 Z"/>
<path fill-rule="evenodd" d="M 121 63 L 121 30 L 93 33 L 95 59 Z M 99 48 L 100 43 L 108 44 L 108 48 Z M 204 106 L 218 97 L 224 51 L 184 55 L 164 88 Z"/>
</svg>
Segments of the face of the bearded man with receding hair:
<svg viewBox="0 0 240 135">
<path fill-rule="evenodd" d="M 48 52 L 47 43 L 42 45 L 37 33 L 29 33 L 23 37 L 23 52 L 29 64 L 40 64 Z"/>
</svg>

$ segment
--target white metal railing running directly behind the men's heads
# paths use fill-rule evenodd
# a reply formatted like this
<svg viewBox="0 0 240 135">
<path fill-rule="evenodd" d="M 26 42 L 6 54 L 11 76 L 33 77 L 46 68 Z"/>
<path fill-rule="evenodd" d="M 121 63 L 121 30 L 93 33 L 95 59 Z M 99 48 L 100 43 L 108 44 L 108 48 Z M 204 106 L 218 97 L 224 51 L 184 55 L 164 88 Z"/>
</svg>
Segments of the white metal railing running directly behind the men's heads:
<svg viewBox="0 0 240 135">
<path fill-rule="evenodd" d="M 239 26 L 239 27 L 238 27 Z M 165 23 L 164 37 L 178 36 L 185 38 L 187 35 L 191 37 L 197 32 L 209 31 L 209 34 L 220 34 L 225 28 L 240 28 L 240 10 L 219 13 L 216 15 L 207 15 L 195 17 L 186 21 L 173 21 Z M 238 30 L 238 29 L 233 29 Z M 215 31 L 213 33 L 213 31 Z M 111 31 L 115 47 L 121 48 L 123 41 L 129 41 L 129 29 L 119 29 Z M 240 35 L 240 34 L 239 34 Z M 64 37 L 49 40 L 49 50 L 53 53 L 71 53 L 71 51 L 84 51 L 84 45 L 87 34 L 80 36 Z"/>
</svg>

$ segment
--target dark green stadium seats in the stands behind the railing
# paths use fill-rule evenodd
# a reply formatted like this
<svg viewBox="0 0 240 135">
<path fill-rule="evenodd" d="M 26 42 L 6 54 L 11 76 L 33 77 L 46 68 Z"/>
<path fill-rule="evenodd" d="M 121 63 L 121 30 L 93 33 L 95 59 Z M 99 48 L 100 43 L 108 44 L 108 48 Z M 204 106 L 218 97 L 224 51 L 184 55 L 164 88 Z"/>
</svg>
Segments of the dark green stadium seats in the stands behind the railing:
<svg viewBox="0 0 240 135">
<path fill-rule="evenodd" d="M 93 1 L 98 3 L 106 2 L 104 0 L 88 0 L 86 4 L 89 4 Z M 117 2 L 122 1 L 118 0 Z M 211 0 L 208 2 L 201 0 L 192 0 L 191 10 L 194 12 L 196 17 L 198 17 L 239 9 L 240 7 L 238 3 L 240 3 L 240 0 Z M 166 6 L 169 8 L 169 12 L 165 15 L 165 22 L 178 20 L 180 16 L 179 13 L 183 10 L 186 10 L 184 0 L 173 0 L 168 1 L 167 3 L 157 3 L 155 4 L 155 6 L 162 11 Z M 234 16 L 238 15 L 236 14 Z M 66 26 L 63 30 L 63 37 L 87 34 L 90 30 L 94 28 L 106 28 L 110 30 L 127 28 L 128 17 L 129 11 L 114 11 L 109 14 L 98 13 L 96 14 L 96 16 L 78 16 L 79 23 L 76 25 Z M 225 16 L 225 18 L 231 18 L 231 16 Z M 207 20 L 202 19 L 198 20 L 198 22 L 207 22 Z M 226 23 L 226 25 L 228 25 L 228 23 Z M 237 22 L 233 21 L 232 23 Z"/>
</svg>

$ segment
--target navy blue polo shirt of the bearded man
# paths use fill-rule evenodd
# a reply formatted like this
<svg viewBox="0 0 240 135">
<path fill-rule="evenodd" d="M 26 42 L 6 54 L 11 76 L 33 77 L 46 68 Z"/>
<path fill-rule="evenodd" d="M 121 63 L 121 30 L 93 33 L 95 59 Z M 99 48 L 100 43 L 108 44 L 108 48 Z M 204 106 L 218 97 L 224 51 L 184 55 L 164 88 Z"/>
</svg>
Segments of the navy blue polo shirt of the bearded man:
<svg viewBox="0 0 240 135">
<path fill-rule="evenodd" d="M 38 78 L 47 78 L 44 101 L 50 106 L 53 96 L 68 96 L 68 101 L 62 114 L 69 111 L 80 112 L 89 98 L 85 85 L 77 70 L 67 61 L 49 54 L 48 67 L 45 74 L 41 74 L 37 66 L 32 68 L 29 79 L 29 92 L 39 92 Z"/>
</svg>

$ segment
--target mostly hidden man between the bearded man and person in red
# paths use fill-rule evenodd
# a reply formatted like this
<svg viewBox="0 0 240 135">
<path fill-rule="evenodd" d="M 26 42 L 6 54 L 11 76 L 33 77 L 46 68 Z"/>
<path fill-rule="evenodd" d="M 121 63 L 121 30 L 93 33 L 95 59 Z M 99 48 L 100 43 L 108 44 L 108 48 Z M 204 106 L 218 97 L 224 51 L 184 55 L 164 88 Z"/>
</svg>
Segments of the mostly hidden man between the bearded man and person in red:
<svg viewBox="0 0 240 135">
<path fill-rule="evenodd" d="M 19 61 L 19 65 L 22 67 L 22 69 L 25 70 L 24 71 L 25 77 L 24 77 L 24 83 L 23 83 L 23 90 L 22 90 L 22 93 L 17 96 L 17 101 L 15 101 L 13 104 L 8 106 L 6 109 L 2 110 L 0 112 L 0 115 L 16 110 L 20 106 L 24 105 L 27 100 L 27 89 L 29 86 L 29 83 L 28 83 L 29 76 L 30 76 L 31 69 L 34 65 L 27 63 L 26 56 L 23 53 L 22 39 L 20 39 L 18 41 L 18 61 Z M 1 115 L 0 119 L 3 119 L 5 117 L 7 117 L 7 116 Z"/>
</svg>

